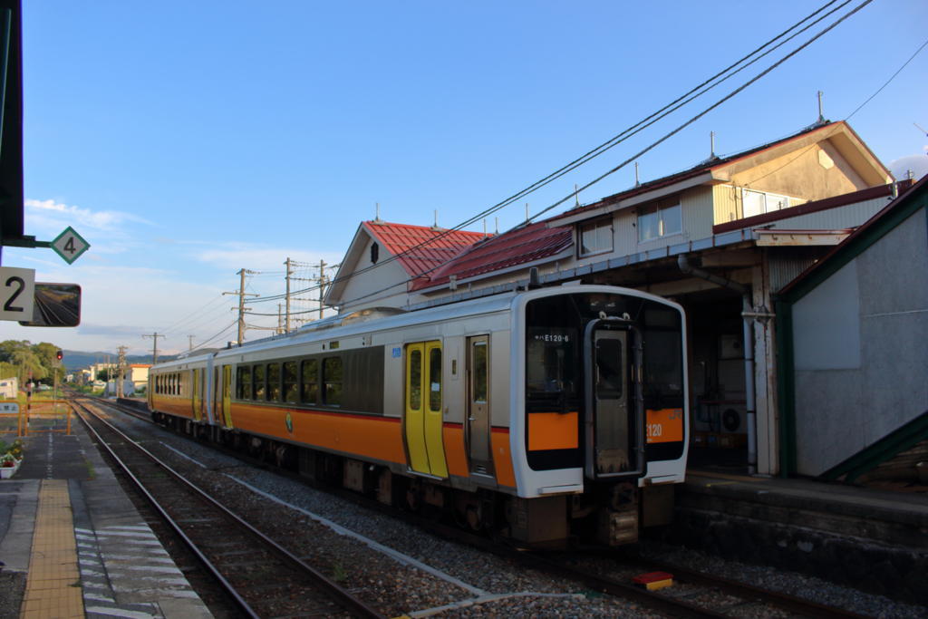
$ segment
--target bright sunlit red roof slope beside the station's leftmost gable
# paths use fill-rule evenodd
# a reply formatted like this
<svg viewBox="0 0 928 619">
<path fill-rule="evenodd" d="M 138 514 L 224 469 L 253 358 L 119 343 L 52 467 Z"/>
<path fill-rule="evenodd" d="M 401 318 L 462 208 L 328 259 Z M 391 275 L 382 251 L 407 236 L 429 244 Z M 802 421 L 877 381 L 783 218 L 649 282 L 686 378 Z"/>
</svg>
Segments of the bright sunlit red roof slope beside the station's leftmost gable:
<svg viewBox="0 0 928 619">
<path fill-rule="evenodd" d="M 399 263 L 410 277 L 417 277 L 445 264 L 487 236 L 481 232 L 378 221 L 364 222 L 364 226 L 371 238 L 377 240 L 385 251 L 398 256 Z"/>
</svg>

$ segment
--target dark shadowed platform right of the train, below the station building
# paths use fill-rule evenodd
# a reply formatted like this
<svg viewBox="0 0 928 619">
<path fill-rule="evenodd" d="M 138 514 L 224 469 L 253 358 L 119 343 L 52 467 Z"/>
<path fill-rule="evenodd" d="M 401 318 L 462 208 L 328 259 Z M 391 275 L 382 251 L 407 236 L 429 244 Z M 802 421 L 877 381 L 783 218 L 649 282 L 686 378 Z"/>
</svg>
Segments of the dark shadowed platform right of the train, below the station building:
<svg viewBox="0 0 928 619">
<path fill-rule="evenodd" d="M 925 487 L 890 491 L 690 468 L 665 537 L 928 606 Z"/>
</svg>

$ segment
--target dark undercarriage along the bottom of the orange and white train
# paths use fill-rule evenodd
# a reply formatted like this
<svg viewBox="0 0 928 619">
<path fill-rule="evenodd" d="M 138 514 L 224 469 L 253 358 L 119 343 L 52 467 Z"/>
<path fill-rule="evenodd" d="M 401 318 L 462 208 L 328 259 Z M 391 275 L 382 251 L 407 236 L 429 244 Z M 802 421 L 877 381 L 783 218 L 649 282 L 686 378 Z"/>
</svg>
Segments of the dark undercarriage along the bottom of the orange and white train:
<svg viewBox="0 0 928 619">
<path fill-rule="evenodd" d="M 382 465 L 192 419 L 159 412 L 153 412 L 152 419 L 174 432 L 299 474 L 314 484 L 347 489 L 383 505 L 531 548 L 567 548 L 578 542 L 631 544 L 638 541 L 641 526 L 668 524 L 673 518 L 673 485 L 587 484 L 584 494 L 521 498 L 433 483 Z"/>
</svg>

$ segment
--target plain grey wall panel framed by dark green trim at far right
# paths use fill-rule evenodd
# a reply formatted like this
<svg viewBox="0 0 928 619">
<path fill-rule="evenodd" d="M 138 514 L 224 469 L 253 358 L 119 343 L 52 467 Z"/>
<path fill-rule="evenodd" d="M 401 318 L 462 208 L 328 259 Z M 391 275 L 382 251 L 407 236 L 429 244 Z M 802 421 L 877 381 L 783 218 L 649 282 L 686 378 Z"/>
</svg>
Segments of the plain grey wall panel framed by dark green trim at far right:
<svg viewBox="0 0 928 619">
<path fill-rule="evenodd" d="M 922 209 L 793 306 L 798 472 L 821 474 L 928 410 L 926 342 Z"/>
</svg>

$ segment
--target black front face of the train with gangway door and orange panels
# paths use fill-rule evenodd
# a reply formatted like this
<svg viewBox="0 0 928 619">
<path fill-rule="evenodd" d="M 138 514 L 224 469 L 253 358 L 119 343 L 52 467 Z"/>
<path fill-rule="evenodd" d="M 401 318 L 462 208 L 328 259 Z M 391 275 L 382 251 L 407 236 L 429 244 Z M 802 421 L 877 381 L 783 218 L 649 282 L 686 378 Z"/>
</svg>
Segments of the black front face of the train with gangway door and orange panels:
<svg viewBox="0 0 928 619">
<path fill-rule="evenodd" d="M 683 453 L 683 355 L 676 308 L 584 292 L 525 309 L 525 440 L 535 471 L 640 474 Z M 635 371 L 642 366 L 640 380 Z M 590 376 L 587 376 L 589 374 Z M 593 454 L 586 461 L 586 444 Z"/>
</svg>

